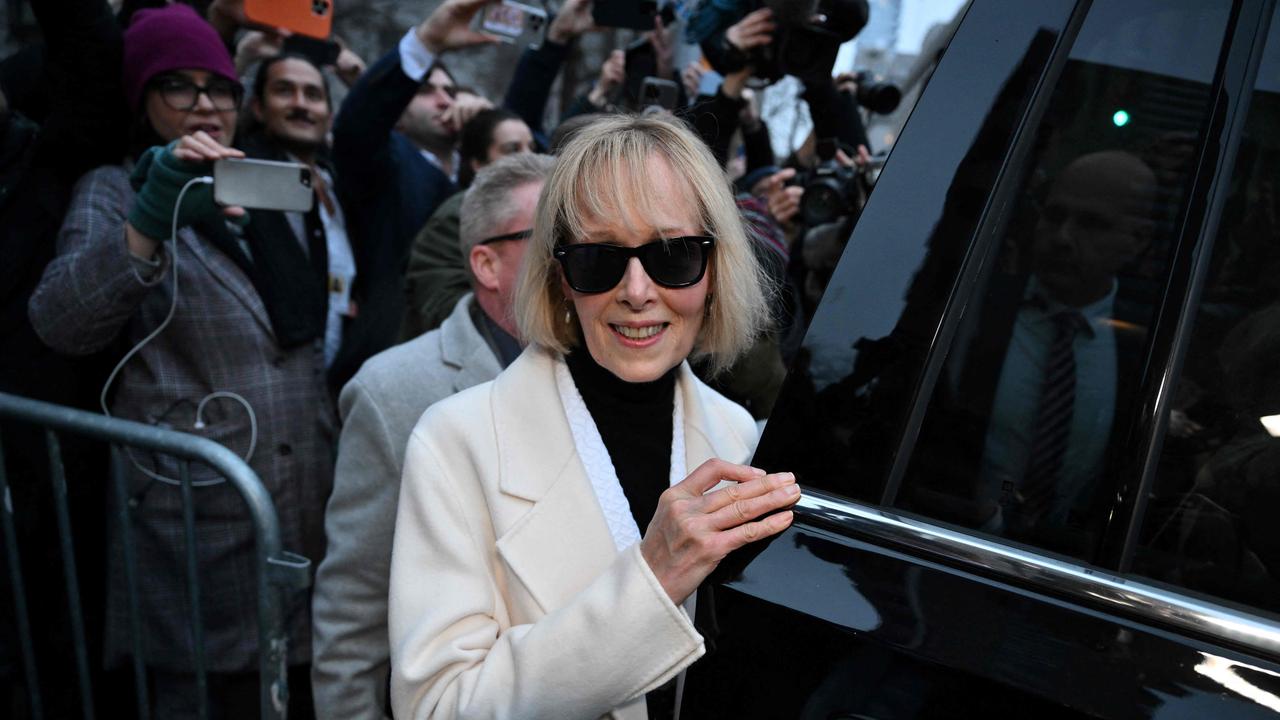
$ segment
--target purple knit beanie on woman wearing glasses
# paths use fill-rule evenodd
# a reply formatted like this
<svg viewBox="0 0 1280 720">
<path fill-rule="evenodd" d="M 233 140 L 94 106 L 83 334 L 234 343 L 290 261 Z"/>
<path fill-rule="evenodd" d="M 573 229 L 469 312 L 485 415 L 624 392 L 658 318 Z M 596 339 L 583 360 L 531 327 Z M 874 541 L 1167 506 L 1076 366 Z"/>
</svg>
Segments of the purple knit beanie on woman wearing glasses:
<svg viewBox="0 0 1280 720">
<path fill-rule="evenodd" d="M 124 31 L 124 94 L 137 110 L 147 82 L 170 70 L 209 70 L 239 83 L 223 38 L 182 3 L 138 10 Z"/>
</svg>

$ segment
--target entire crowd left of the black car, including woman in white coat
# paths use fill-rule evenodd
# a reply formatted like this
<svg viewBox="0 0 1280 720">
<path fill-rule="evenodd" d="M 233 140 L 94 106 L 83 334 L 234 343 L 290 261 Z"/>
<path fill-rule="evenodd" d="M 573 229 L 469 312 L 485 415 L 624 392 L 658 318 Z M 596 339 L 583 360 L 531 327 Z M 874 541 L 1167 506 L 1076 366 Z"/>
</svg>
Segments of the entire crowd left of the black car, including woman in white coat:
<svg viewBox="0 0 1280 720">
<path fill-rule="evenodd" d="M 703 652 L 694 591 L 799 495 L 739 462 L 822 272 L 794 178 L 815 147 L 867 159 L 850 81 L 803 78 L 831 137 L 777 159 L 749 79 L 781 20 L 710 3 L 718 87 L 705 59 L 672 67 L 658 19 L 644 72 L 677 82 L 675 108 L 627 90 L 620 49 L 550 123 L 591 0 L 559 4 L 497 102 L 447 64 L 495 41 L 472 23 L 489 1 L 445 0 L 366 68 L 284 50 L 238 0 L 32 0 L 42 45 L 5 61 L 45 81 L 0 86 L 0 391 L 248 462 L 315 568 L 288 607 L 296 716 L 669 716 Z M 867 5 L 845 5 L 851 35 Z M 311 209 L 219 204 L 214 163 L 243 158 L 305 167 Z M 141 650 L 156 716 L 207 694 L 239 717 L 261 651 L 243 502 L 192 469 L 196 648 L 182 470 L 125 461 L 127 497 L 78 509 L 129 518 L 106 533 L 106 666 Z"/>
</svg>

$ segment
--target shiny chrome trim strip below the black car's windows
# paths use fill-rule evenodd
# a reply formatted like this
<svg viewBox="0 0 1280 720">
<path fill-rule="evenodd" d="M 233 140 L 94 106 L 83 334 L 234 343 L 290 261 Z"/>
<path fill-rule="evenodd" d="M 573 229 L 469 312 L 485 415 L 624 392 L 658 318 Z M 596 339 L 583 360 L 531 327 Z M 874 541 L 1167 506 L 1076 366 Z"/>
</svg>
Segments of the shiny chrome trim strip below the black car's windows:
<svg viewBox="0 0 1280 720">
<path fill-rule="evenodd" d="M 1012 580 L 1066 594 L 1117 615 L 1146 619 L 1280 657 L 1280 623 L 1016 546 L 920 521 L 883 507 L 804 488 L 797 519 L 833 523 L 859 534 L 959 560 Z"/>
</svg>

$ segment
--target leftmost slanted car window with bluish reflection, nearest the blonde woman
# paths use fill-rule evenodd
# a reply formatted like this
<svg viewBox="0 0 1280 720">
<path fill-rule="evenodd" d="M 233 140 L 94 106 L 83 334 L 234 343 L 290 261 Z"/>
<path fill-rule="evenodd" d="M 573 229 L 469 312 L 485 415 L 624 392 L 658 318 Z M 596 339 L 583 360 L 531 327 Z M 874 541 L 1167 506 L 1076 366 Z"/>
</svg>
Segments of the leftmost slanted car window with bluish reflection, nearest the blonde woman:
<svg viewBox="0 0 1280 720">
<path fill-rule="evenodd" d="M 758 465 L 879 501 L 955 268 L 1075 5 L 991 0 L 968 9 L 847 246 L 837 238 L 844 254 Z"/>
</svg>

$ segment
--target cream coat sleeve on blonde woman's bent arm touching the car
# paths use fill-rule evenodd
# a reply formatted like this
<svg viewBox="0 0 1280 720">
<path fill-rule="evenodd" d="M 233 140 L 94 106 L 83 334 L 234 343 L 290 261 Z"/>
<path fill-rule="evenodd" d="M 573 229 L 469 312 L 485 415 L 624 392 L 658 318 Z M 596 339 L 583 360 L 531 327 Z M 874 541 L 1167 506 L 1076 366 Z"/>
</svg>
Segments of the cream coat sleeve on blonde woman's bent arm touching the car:
<svg viewBox="0 0 1280 720">
<path fill-rule="evenodd" d="M 424 423 L 425 424 L 425 423 Z M 703 639 L 639 543 L 535 623 L 507 626 L 492 521 L 470 468 L 422 425 L 404 460 L 392 552 L 397 717 L 599 717 L 701 657 Z"/>
</svg>

